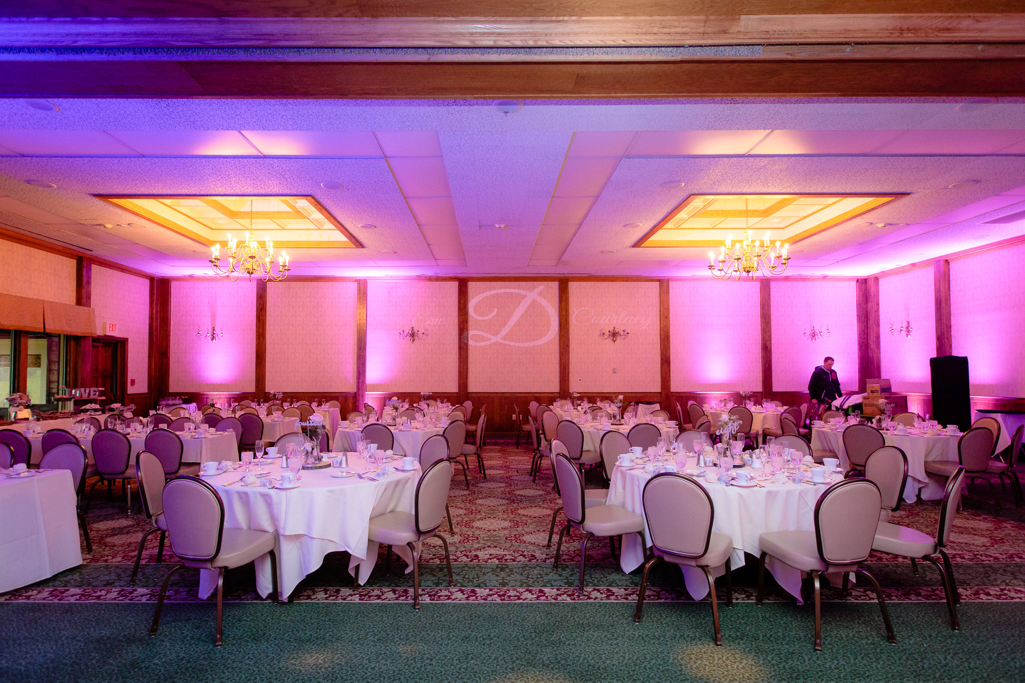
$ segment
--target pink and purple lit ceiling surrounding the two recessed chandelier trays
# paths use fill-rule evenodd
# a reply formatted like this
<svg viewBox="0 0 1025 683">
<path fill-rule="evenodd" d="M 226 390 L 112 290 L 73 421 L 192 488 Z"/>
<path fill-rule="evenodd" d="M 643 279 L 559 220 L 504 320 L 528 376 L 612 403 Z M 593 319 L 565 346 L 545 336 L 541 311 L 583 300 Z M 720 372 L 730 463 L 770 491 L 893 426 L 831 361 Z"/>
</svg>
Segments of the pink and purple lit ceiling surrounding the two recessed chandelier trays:
<svg viewBox="0 0 1025 683">
<path fill-rule="evenodd" d="M 707 247 L 634 247 L 692 195 L 906 195 L 788 274 L 1025 233 L 1022 99 L 48 101 L 0 100 L 0 225 L 161 275 L 208 249 L 95 196 L 314 197 L 364 248 L 293 275 L 701 274 Z"/>
</svg>

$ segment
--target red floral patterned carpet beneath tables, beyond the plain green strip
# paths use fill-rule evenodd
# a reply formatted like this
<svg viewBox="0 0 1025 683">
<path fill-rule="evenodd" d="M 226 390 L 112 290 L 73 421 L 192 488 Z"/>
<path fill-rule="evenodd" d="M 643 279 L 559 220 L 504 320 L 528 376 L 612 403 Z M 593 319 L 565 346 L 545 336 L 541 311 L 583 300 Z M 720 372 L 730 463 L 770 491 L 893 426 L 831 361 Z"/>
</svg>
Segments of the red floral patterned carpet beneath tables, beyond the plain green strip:
<svg viewBox="0 0 1025 683">
<path fill-rule="evenodd" d="M 453 478 L 450 507 L 455 521 L 455 536 L 450 542 L 455 571 L 455 587 L 445 580 L 441 544 L 425 544 L 422 560 L 421 599 L 425 602 L 509 602 L 509 601 L 633 601 L 640 584 L 640 570 L 624 574 L 611 555 L 608 544 L 593 543 L 588 552 L 586 584 L 583 596 L 576 591 L 580 537 L 572 536 L 564 544 L 565 563 L 552 569 L 552 548 L 545 548 L 551 511 L 559 505 L 552 492 L 551 474 L 542 470 L 533 482 L 527 470 L 530 452 L 517 449 L 511 441 L 498 441 L 485 451 L 488 478 L 470 474 L 469 490 L 461 476 Z M 457 470 L 458 473 L 458 470 Z M 601 486 L 600 473 L 588 473 L 588 486 Z M 970 488 L 987 493 L 988 487 Z M 156 564 L 156 537 L 151 537 L 142 556 L 142 567 L 135 587 L 128 587 L 135 548 L 148 523 L 135 511 L 126 515 L 123 496 L 109 501 L 97 492 L 89 513 L 89 528 L 94 552 L 85 555 L 85 563 L 59 574 L 0 595 L 0 602 L 152 602 L 168 564 Z M 133 504 L 137 497 L 133 492 Z M 1004 492 L 999 514 L 992 502 L 976 496 L 965 498 L 965 511 L 957 516 L 950 555 L 966 601 L 1025 600 L 1025 516 L 1011 503 Z M 897 523 L 935 533 L 939 513 L 936 503 L 904 505 L 896 513 Z M 443 527 L 447 533 L 447 529 Z M 557 530 L 558 535 L 558 530 Z M 169 553 L 167 554 L 169 555 Z M 173 559 L 173 558 L 171 558 Z M 165 556 L 165 560 L 168 557 Z M 383 551 L 366 586 L 353 590 L 343 553 L 329 555 L 320 569 L 296 589 L 293 599 L 302 601 L 411 601 L 412 578 L 405 574 L 401 560 L 393 562 L 391 574 L 384 572 Z M 911 571 L 906 560 L 873 555 L 866 563 L 884 586 L 890 601 L 941 602 L 943 591 L 939 577 L 929 565 Z M 720 580 L 722 582 L 722 580 Z M 175 575 L 172 601 L 198 600 L 195 571 Z M 771 585 L 771 581 L 770 581 Z M 228 599 L 254 601 L 252 567 L 230 571 L 225 581 Z M 735 597 L 754 599 L 753 558 L 734 572 Z M 827 600 L 836 593 L 827 590 Z M 679 571 L 656 567 L 652 577 L 651 601 L 682 601 L 690 597 L 681 590 Z M 792 597 L 775 591 L 771 600 L 792 602 Z M 855 589 L 852 600 L 873 600 L 867 588 Z M 965 607 L 971 610 L 971 607 Z"/>
</svg>

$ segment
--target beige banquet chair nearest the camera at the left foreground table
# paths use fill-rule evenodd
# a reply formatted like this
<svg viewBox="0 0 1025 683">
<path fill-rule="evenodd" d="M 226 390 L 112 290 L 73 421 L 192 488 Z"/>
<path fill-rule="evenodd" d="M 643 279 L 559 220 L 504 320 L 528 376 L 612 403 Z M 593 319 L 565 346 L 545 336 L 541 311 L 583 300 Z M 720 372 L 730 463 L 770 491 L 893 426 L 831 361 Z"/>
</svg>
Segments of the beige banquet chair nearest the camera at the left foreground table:
<svg viewBox="0 0 1025 683">
<path fill-rule="evenodd" d="M 278 561 L 275 555 L 277 538 L 273 531 L 224 526 L 224 502 L 205 481 L 196 477 L 174 477 L 164 485 L 161 496 L 164 521 L 171 539 L 171 552 L 181 564 L 175 564 L 160 586 L 157 609 L 153 614 L 150 637 L 157 635 L 164 595 L 174 572 L 181 567 L 217 571 L 217 628 L 214 647 L 223 641 L 224 569 L 249 564 L 263 555 L 271 556 L 271 583 L 274 601 L 278 602 Z"/>
</svg>

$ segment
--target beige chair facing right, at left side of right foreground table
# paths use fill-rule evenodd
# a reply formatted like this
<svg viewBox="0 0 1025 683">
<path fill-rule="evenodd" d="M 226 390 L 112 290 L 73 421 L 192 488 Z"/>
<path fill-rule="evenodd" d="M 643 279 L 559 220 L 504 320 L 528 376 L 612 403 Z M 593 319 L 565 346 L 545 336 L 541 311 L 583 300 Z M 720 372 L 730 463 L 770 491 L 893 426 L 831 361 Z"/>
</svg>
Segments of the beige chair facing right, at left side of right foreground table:
<svg viewBox="0 0 1025 683">
<path fill-rule="evenodd" d="M 559 485 L 559 497 L 563 502 L 563 513 L 566 515 L 566 525 L 559 531 L 559 543 L 556 545 L 555 568 L 559 568 L 559 558 L 563 549 L 563 537 L 571 528 L 583 532 L 583 543 L 580 545 L 580 579 L 577 592 L 583 594 L 583 570 L 587 561 L 587 542 L 592 537 L 624 536 L 637 533 L 641 539 L 641 547 L 645 547 L 644 519 L 641 515 L 630 512 L 620 505 L 598 505 L 588 508 L 586 494 L 583 487 L 583 477 L 576 464 L 564 453 L 556 453 L 556 481 Z M 610 540 L 610 543 L 611 540 Z"/>
</svg>

